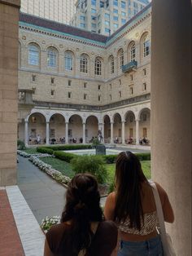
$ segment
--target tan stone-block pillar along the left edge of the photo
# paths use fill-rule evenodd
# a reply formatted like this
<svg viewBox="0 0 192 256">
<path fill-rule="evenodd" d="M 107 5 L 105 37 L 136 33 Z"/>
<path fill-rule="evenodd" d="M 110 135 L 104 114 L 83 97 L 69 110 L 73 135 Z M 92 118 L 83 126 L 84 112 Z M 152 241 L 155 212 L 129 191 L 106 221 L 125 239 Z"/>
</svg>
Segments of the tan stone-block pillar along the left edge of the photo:
<svg viewBox="0 0 192 256">
<path fill-rule="evenodd" d="M 19 0 L 0 0 L 0 187 L 16 184 Z"/>
</svg>

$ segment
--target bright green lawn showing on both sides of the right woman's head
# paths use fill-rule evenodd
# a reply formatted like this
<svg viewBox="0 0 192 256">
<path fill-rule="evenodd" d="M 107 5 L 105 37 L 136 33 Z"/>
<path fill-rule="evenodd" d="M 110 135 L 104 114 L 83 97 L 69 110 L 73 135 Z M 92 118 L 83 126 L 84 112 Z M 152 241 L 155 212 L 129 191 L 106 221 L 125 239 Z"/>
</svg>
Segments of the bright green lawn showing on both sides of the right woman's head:
<svg viewBox="0 0 192 256">
<path fill-rule="evenodd" d="M 146 179 L 151 179 L 151 161 L 141 161 L 142 170 L 146 175 Z M 115 175 L 116 164 L 106 165 L 108 174 L 108 183 L 112 183 Z"/>
</svg>

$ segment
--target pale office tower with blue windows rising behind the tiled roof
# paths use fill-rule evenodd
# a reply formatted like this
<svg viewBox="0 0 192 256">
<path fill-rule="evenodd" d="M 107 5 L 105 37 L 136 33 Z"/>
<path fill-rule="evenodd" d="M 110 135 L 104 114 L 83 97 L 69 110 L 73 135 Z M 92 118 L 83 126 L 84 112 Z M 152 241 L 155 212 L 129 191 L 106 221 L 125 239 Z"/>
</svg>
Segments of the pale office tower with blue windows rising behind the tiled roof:
<svg viewBox="0 0 192 256">
<path fill-rule="evenodd" d="M 70 24 L 94 33 L 110 35 L 142 11 L 149 0 L 77 0 Z"/>
</svg>

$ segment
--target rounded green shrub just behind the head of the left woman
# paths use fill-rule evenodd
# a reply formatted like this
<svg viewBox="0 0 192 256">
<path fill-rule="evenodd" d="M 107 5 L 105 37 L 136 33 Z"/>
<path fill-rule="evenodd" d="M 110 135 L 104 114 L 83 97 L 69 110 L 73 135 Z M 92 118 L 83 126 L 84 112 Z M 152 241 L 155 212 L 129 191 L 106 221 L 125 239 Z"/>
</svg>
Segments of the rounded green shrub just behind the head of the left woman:
<svg viewBox="0 0 192 256">
<path fill-rule="evenodd" d="M 72 170 L 78 173 L 90 173 L 93 174 L 98 183 L 105 183 L 107 180 L 107 169 L 103 161 L 103 157 L 100 156 L 81 156 L 74 157 L 71 161 Z"/>
</svg>

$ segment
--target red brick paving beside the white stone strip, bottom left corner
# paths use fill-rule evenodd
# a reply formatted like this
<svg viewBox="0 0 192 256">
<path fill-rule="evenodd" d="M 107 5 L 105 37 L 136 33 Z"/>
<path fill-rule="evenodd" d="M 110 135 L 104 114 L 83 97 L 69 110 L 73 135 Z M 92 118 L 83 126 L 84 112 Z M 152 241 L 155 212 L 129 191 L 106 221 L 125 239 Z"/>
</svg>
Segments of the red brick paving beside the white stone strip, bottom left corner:
<svg viewBox="0 0 192 256">
<path fill-rule="evenodd" d="M 6 190 L 0 190 L 0 255 L 24 256 Z"/>
</svg>

